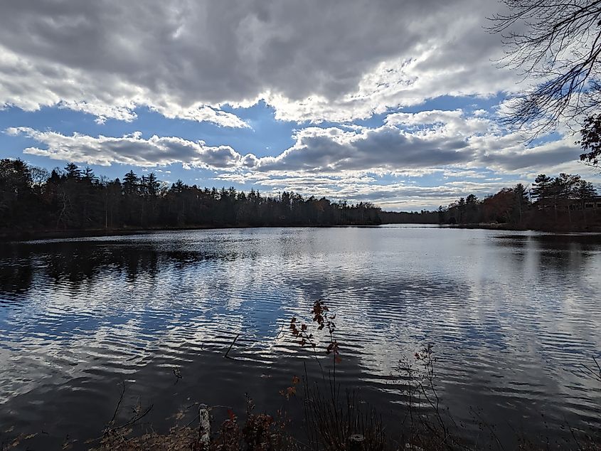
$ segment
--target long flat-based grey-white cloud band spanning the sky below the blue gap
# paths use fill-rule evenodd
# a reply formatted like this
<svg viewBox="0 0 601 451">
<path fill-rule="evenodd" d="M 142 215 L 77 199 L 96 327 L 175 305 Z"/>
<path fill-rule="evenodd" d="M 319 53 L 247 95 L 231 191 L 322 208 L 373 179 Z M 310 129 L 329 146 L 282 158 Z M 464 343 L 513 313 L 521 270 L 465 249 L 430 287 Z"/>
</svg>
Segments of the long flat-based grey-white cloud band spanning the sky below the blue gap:
<svg viewBox="0 0 601 451">
<path fill-rule="evenodd" d="M 573 164 L 576 149 L 569 138 L 526 147 L 521 136 L 503 134 L 481 114 L 461 110 L 395 113 L 381 127 L 306 127 L 294 136 L 292 147 L 277 156 L 239 154 L 229 146 L 210 147 L 180 137 L 149 139 L 66 136 L 27 127 L 7 129 L 23 134 L 45 148 L 30 147 L 26 154 L 88 164 L 156 166 L 175 162 L 186 166 L 235 171 L 238 177 L 286 174 L 393 174 L 420 176 L 435 171 L 445 176 L 489 169 L 503 174 L 553 171 Z M 245 175 L 250 174 L 250 175 Z M 457 177 L 457 175 L 454 175 Z"/>
</svg>

